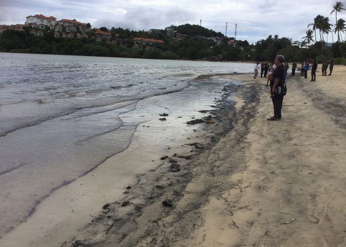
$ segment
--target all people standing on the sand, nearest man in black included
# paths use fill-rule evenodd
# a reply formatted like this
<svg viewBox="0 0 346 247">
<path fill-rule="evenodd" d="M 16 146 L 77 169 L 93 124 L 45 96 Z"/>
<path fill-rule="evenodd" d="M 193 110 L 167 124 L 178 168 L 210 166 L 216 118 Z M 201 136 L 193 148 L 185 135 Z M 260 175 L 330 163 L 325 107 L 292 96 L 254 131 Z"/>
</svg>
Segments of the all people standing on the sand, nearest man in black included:
<svg viewBox="0 0 346 247">
<path fill-rule="evenodd" d="M 329 63 L 326 59 L 323 60 L 322 64 L 322 76 L 327 76 L 327 69 L 329 65 L 329 75 L 332 75 L 333 67 L 334 67 L 334 60 L 330 59 Z M 301 65 L 301 76 L 304 77 L 304 79 L 307 78 L 307 72 L 311 68 L 311 80 L 310 82 L 316 81 L 316 70 L 317 70 L 318 63 L 316 61 L 316 58 L 312 59 L 311 65 L 308 61 L 308 59 L 305 59 L 302 62 Z M 292 76 L 295 76 L 296 74 L 296 68 L 297 64 L 293 61 L 292 63 Z M 255 76 L 254 79 L 258 77 L 259 69 L 261 71 L 260 77 L 267 78 L 266 86 L 268 86 L 268 83 L 270 82 L 270 98 L 273 102 L 273 108 L 274 108 L 274 116 L 268 118 L 269 121 L 277 121 L 281 119 L 281 109 L 282 109 L 282 103 L 284 96 L 286 95 L 286 76 L 287 71 L 289 69 L 288 62 L 285 61 L 284 56 L 277 55 L 275 57 L 274 64 L 268 63 L 268 62 L 262 62 L 259 65 L 259 62 L 255 65 Z M 267 77 L 268 76 L 268 77 Z"/>
</svg>

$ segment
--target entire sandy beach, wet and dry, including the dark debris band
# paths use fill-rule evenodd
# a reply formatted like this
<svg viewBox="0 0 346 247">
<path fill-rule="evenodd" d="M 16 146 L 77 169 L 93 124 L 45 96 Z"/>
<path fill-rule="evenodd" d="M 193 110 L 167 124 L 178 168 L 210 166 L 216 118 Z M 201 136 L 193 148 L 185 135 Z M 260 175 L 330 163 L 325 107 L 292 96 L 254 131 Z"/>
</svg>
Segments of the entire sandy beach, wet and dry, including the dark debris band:
<svg viewBox="0 0 346 247">
<path fill-rule="evenodd" d="M 134 136 L 141 145 L 56 191 L 38 206 L 40 214 L 1 236 L 1 245 L 345 246 L 346 67 L 320 73 L 316 82 L 288 77 L 283 118 L 273 122 L 266 120 L 272 116 L 266 79 L 218 76 L 243 83 L 223 89 L 236 91 L 235 101 L 222 98 L 201 115 L 210 124 L 191 125 L 194 133 L 176 142 L 183 145 L 156 140 L 151 153 L 145 143 L 155 133 Z M 169 126 L 191 120 L 171 117 L 140 127 L 169 135 Z M 156 168 L 144 172 L 152 164 L 140 167 L 143 160 Z M 123 165 L 110 169 L 114 163 Z M 138 166 L 136 179 L 127 164 Z M 83 200 L 87 193 L 94 200 Z M 65 211 L 58 209 L 62 198 Z M 52 215 L 51 223 L 43 214 Z"/>
</svg>

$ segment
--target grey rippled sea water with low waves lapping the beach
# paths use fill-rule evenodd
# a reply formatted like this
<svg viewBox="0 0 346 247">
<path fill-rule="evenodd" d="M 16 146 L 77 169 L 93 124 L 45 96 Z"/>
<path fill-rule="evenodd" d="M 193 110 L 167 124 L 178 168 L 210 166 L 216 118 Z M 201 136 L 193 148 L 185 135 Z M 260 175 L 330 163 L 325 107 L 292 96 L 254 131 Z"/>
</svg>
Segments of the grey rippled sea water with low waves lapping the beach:
<svg viewBox="0 0 346 247">
<path fill-rule="evenodd" d="M 53 190 L 127 149 L 140 124 L 205 110 L 233 83 L 198 76 L 253 67 L 15 53 L 0 53 L 0 66 L 0 234 Z"/>
</svg>

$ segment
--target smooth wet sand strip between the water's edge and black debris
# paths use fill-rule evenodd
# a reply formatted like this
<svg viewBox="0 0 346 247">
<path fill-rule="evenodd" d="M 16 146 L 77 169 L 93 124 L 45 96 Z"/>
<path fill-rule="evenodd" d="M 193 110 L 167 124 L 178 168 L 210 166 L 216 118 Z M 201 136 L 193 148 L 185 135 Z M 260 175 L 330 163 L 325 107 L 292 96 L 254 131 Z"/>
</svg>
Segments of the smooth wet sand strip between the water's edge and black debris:
<svg viewBox="0 0 346 247">
<path fill-rule="evenodd" d="M 219 87 L 221 88 L 221 86 Z M 234 88 L 237 87 L 237 85 L 234 85 Z M 211 96 L 214 94 L 216 96 L 220 93 L 221 92 L 214 93 L 213 90 Z M 170 96 L 162 95 L 159 97 L 166 98 Z M 214 97 L 213 101 L 215 101 Z M 206 103 L 207 102 L 208 100 L 206 99 Z M 231 104 L 234 103 L 231 102 Z M 198 114 L 206 117 L 206 115 L 208 116 L 210 114 L 210 111 L 213 112 L 215 107 L 216 106 L 210 107 L 208 105 L 208 107 L 205 108 L 208 109 L 207 111 L 202 111 L 202 113 Z M 131 141 L 132 144 L 135 144 L 134 146 L 130 144 L 126 151 L 108 158 L 104 163 L 89 173 L 55 190 L 37 205 L 35 213 L 26 218 L 25 222 L 19 224 L 18 227 L 7 234 L 2 235 L 0 243 L 4 246 L 13 246 L 14 241 L 16 244 L 22 246 L 27 246 L 28 243 L 31 243 L 31 246 L 60 246 L 61 244 L 59 243 L 63 243 L 65 240 L 71 241 L 70 239 L 75 236 L 78 229 L 83 228 L 98 215 L 98 210 L 103 205 L 109 203 L 111 200 L 121 200 L 125 198 L 127 196 L 123 194 L 125 187 L 129 184 L 133 186 L 133 184 L 138 183 L 138 179 L 143 176 L 143 174 L 153 172 L 153 167 L 161 167 L 162 161 L 160 158 L 165 152 L 169 153 L 174 150 L 177 156 L 181 156 L 177 157 L 181 162 L 190 159 L 191 154 L 194 155 L 199 151 L 199 148 L 187 144 L 201 142 L 202 139 L 205 140 L 203 137 L 205 130 L 201 130 L 200 128 L 210 127 L 210 124 L 202 124 L 205 125 L 203 127 L 201 124 L 186 126 L 187 121 L 194 119 L 194 116 L 191 116 L 193 109 L 194 107 L 191 108 L 191 112 L 186 112 L 181 115 L 181 117 L 175 116 L 177 113 L 168 112 L 169 116 L 166 117 L 167 121 L 162 122 L 154 120 L 138 125 L 137 128 L 139 132 L 136 131 Z M 171 110 L 173 111 L 173 109 Z M 155 111 L 153 114 L 155 114 Z M 148 113 L 149 112 L 150 111 L 148 111 Z M 131 118 L 131 114 L 125 113 L 121 117 L 125 121 Z M 157 115 L 157 119 L 158 118 L 160 118 L 159 115 Z M 175 130 L 172 132 L 169 126 L 175 128 Z M 161 134 L 157 137 L 152 137 L 152 133 L 148 132 L 147 129 L 154 132 L 160 130 Z M 177 132 L 179 129 L 181 129 L 180 133 Z M 188 131 L 186 132 L 187 129 Z M 184 131 L 186 133 L 191 133 L 186 136 Z M 175 132 L 177 132 L 178 135 L 174 137 L 176 140 L 173 142 L 171 140 L 172 145 L 167 146 L 167 144 L 164 144 L 165 142 L 167 143 L 166 138 Z M 162 139 L 157 139 L 160 138 L 160 136 Z M 153 141 L 156 140 L 157 143 L 154 141 L 156 145 L 148 152 L 146 143 L 150 143 L 151 139 Z M 179 143 L 183 144 L 183 146 L 180 146 Z M 190 152 L 192 149 L 194 149 L 194 152 Z M 162 154 L 164 150 L 165 152 Z M 115 164 L 120 164 L 120 166 L 114 166 Z M 145 173 L 143 173 L 143 171 L 145 171 Z M 102 177 L 102 179 L 97 179 L 97 177 Z M 114 178 L 118 180 L 114 181 Z M 112 189 L 110 189 L 110 186 Z M 87 214 L 89 214 L 90 217 L 86 217 Z M 78 228 L 76 228 L 76 226 L 78 226 Z"/>
</svg>

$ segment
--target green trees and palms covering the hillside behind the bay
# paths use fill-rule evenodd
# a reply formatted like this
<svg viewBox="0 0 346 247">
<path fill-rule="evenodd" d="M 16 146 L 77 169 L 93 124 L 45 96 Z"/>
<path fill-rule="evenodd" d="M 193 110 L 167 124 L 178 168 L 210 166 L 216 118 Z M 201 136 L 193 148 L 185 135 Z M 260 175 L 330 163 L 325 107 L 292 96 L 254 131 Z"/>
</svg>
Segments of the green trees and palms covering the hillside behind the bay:
<svg viewBox="0 0 346 247">
<path fill-rule="evenodd" d="M 305 58 L 316 57 L 318 62 L 324 59 L 335 59 L 335 64 L 346 64 L 346 43 L 343 33 L 346 24 L 343 19 L 337 19 L 337 13 L 344 10 L 341 2 L 336 2 L 332 13 L 336 14 L 336 24 L 329 24 L 329 18 L 317 15 L 313 23 L 309 24 L 303 41 L 292 41 L 286 37 L 269 35 L 266 39 L 249 44 L 248 41 L 236 41 L 236 46 L 227 44 L 233 38 L 224 37 L 221 33 L 209 30 L 199 25 L 184 24 L 171 26 L 177 33 L 187 35 L 188 39 L 173 39 L 162 30 L 158 33 L 144 31 L 130 31 L 129 29 L 101 27 L 100 30 L 109 32 L 111 40 L 101 42 L 90 39 L 95 31 L 87 33 L 89 39 L 55 38 L 54 31 L 48 28 L 43 30 L 43 37 L 30 34 L 31 28 L 24 27 L 24 31 L 5 30 L 0 35 L 0 51 L 43 54 L 112 56 L 150 59 L 206 59 L 206 60 L 251 60 L 273 61 L 276 54 L 282 54 L 287 61 L 300 62 Z M 332 14 L 331 13 L 331 14 Z M 334 28 L 333 28 L 334 27 Z M 66 31 L 63 28 L 63 31 Z M 78 30 L 77 30 L 78 31 Z M 338 33 L 338 41 L 327 47 L 325 35 L 330 32 Z M 75 33 L 76 34 L 76 33 Z M 317 35 L 318 34 L 318 35 Z M 163 40 L 164 43 L 136 44 L 135 37 Z M 206 39 L 206 37 L 214 37 Z M 217 39 L 216 39 L 217 37 Z M 319 38 L 319 41 L 317 41 Z M 216 42 L 217 41 L 217 42 Z M 314 43 L 313 43 L 314 42 Z M 340 59 L 338 59 L 340 58 Z"/>
</svg>

